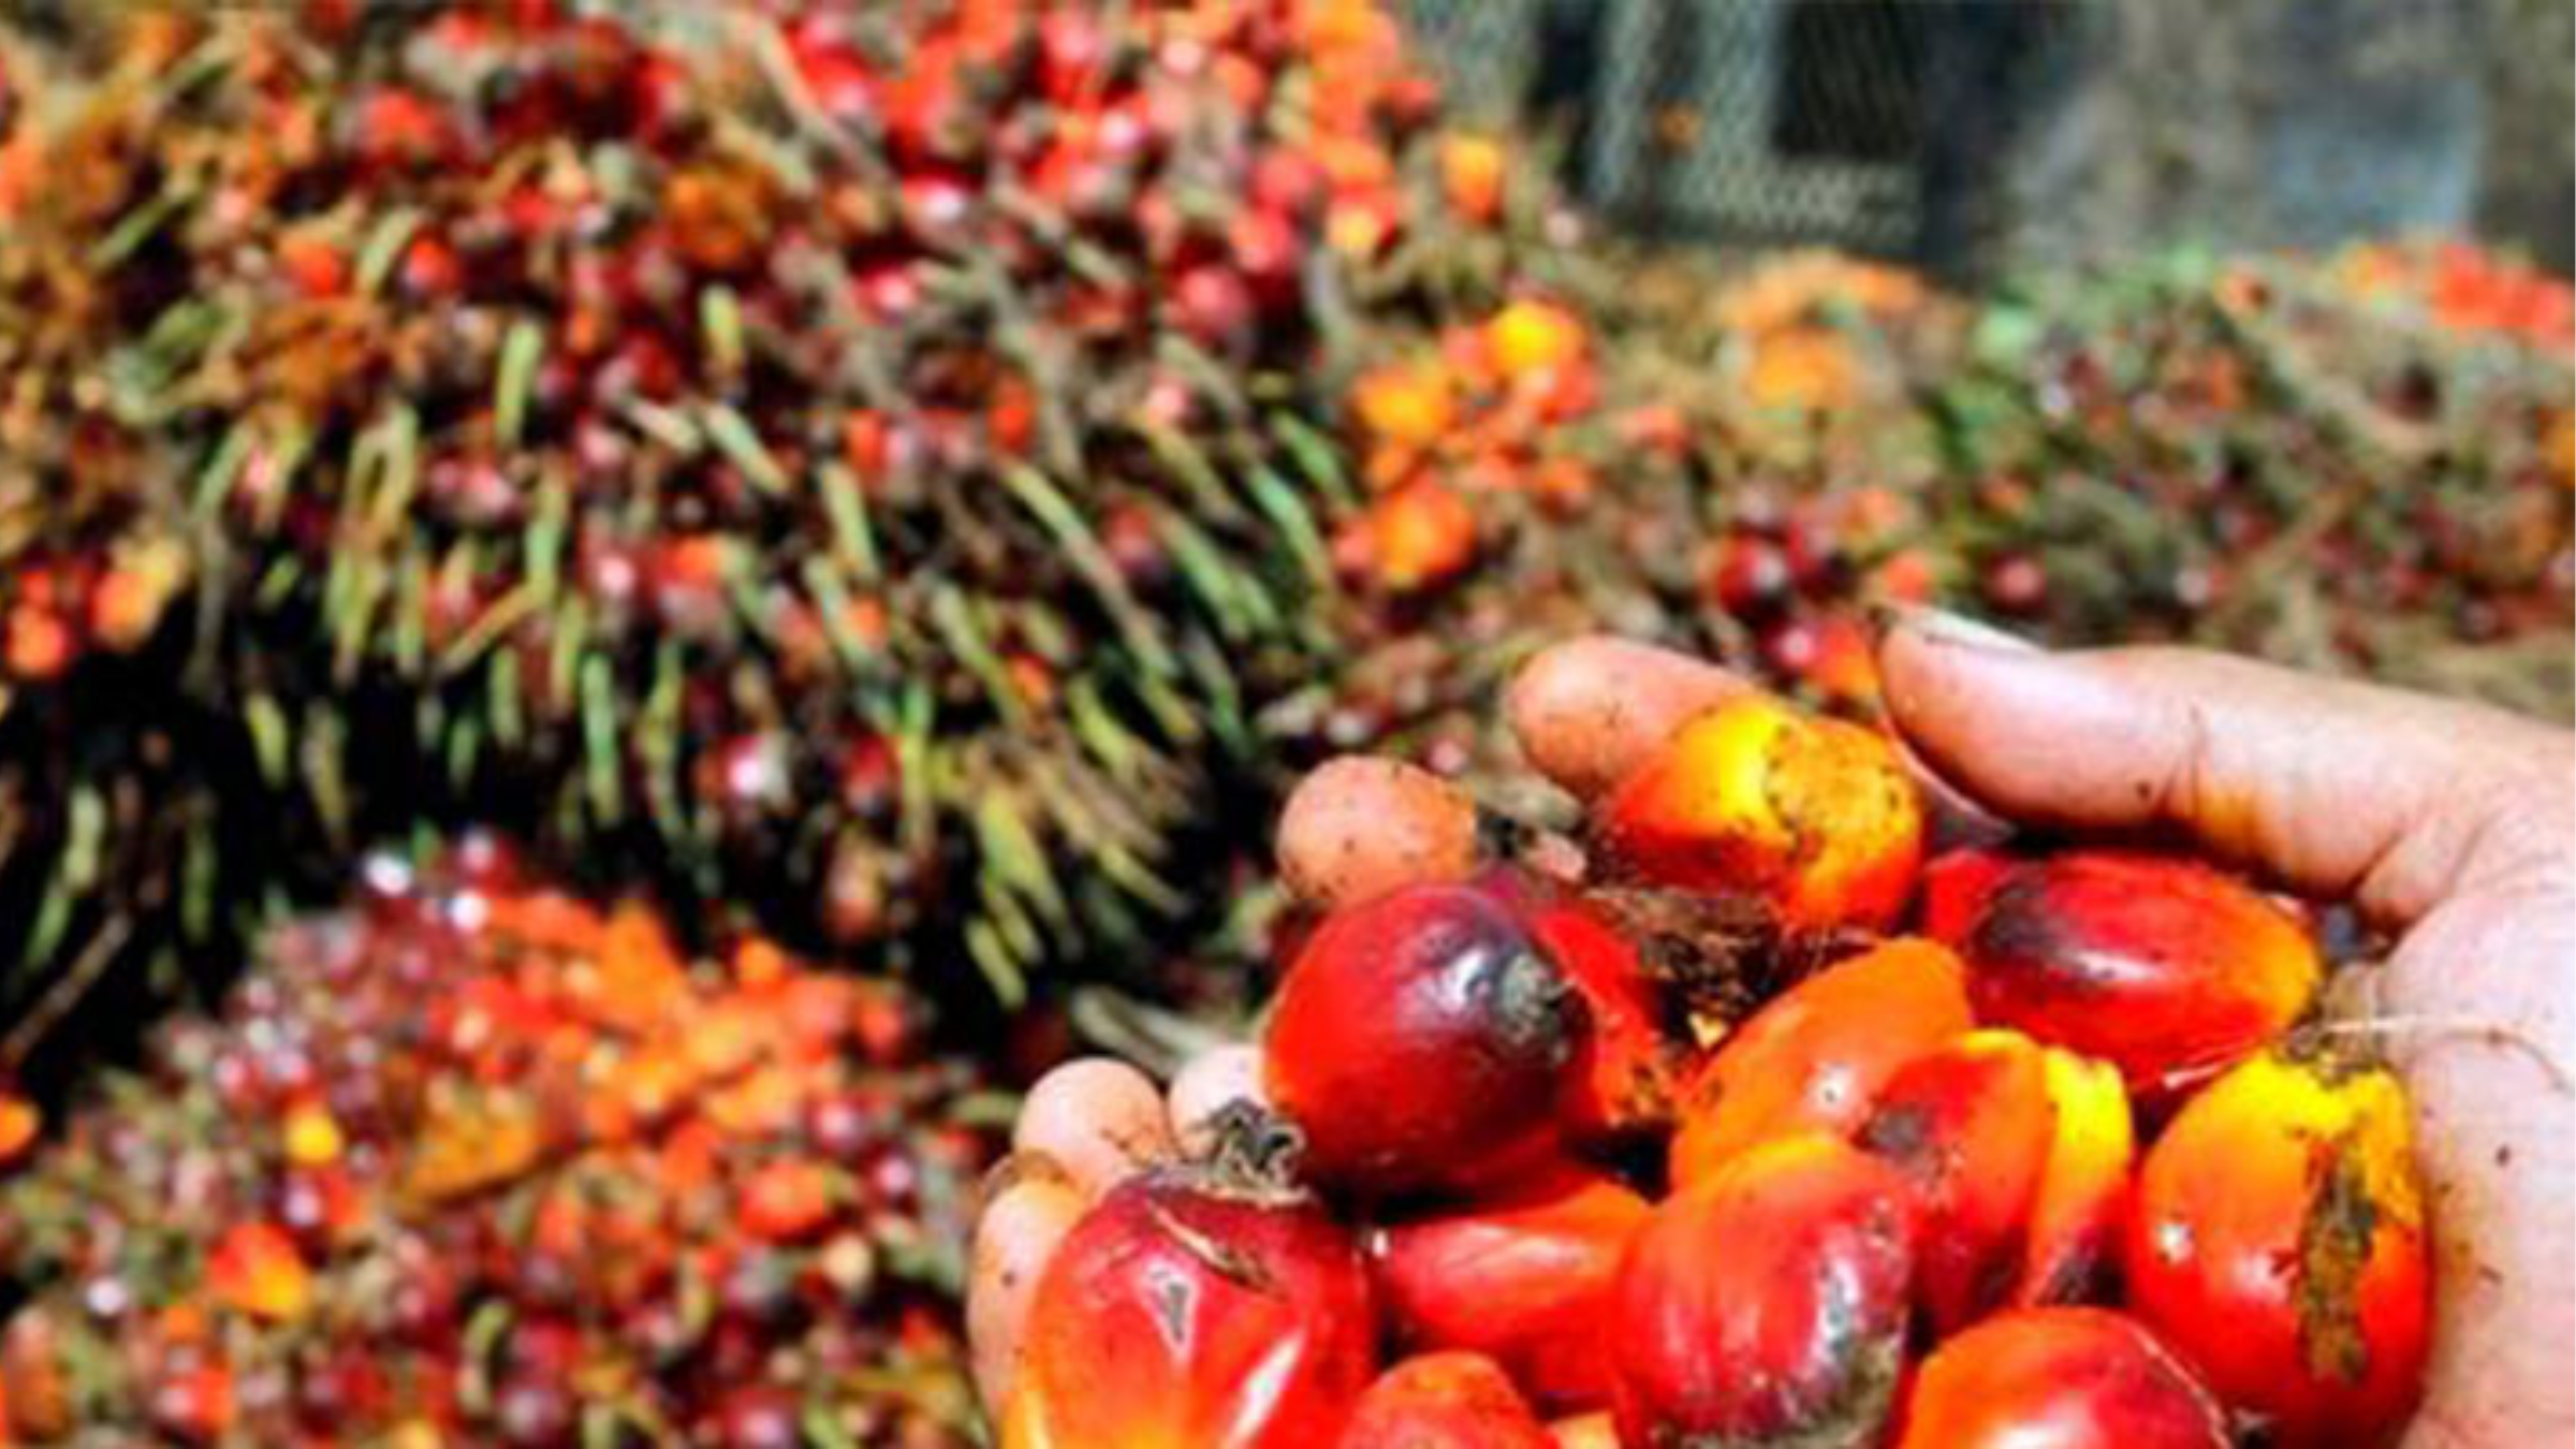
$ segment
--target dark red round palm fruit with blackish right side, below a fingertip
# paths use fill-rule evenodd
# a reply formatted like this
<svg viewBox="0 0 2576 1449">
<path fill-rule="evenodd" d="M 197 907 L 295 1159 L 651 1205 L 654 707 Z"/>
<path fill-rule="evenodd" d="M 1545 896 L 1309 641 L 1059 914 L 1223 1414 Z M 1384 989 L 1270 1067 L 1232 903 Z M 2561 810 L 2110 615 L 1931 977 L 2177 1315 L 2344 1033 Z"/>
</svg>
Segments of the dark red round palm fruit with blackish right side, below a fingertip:
<svg viewBox="0 0 2576 1449">
<path fill-rule="evenodd" d="M 1582 998 L 1492 895 L 1417 884 L 1332 913 L 1262 1042 L 1270 1101 L 1316 1181 L 1463 1189 L 1543 1158 Z"/>
</svg>

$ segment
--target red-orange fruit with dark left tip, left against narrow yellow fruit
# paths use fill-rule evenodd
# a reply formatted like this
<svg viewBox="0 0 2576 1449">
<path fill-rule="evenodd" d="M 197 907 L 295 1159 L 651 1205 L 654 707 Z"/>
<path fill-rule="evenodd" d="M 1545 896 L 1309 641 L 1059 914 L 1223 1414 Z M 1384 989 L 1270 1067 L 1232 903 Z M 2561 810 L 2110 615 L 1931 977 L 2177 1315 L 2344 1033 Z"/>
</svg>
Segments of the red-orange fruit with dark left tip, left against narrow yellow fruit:
<svg viewBox="0 0 2576 1449">
<path fill-rule="evenodd" d="M 2020 1031 L 1968 1031 L 1896 1073 L 1857 1142 L 1914 1189 L 1914 1284 L 1937 1333 L 2004 1302 L 2053 1134 L 2048 1070 Z"/>
</svg>

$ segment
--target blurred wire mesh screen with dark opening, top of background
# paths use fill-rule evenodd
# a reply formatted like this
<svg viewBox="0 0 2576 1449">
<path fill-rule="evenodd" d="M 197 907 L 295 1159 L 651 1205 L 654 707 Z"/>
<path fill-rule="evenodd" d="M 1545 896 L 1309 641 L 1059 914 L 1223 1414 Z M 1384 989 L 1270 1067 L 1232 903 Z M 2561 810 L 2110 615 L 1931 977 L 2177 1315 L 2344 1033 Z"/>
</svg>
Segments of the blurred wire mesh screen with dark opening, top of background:
<svg viewBox="0 0 2576 1449">
<path fill-rule="evenodd" d="M 1623 224 L 1911 253 L 1965 191 L 1958 131 L 2009 129 L 2066 5 L 1414 0 L 1461 103 L 1535 119 Z M 1960 170 L 1960 168 L 1950 168 Z M 1942 178 L 1973 188 L 1971 175 Z"/>
</svg>

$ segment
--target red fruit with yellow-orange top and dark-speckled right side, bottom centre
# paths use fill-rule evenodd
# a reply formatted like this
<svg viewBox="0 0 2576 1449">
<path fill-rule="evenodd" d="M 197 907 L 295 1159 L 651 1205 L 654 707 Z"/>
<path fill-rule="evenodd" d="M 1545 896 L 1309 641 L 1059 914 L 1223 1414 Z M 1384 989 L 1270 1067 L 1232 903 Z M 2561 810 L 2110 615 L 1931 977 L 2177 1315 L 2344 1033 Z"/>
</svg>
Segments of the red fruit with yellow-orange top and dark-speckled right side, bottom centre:
<svg viewBox="0 0 2576 1449">
<path fill-rule="evenodd" d="M 1623 1444 L 1878 1441 L 1904 1372 L 1914 1214 L 1837 1137 L 1767 1142 L 1664 1201 L 1602 1333 Z"/>
</svg>

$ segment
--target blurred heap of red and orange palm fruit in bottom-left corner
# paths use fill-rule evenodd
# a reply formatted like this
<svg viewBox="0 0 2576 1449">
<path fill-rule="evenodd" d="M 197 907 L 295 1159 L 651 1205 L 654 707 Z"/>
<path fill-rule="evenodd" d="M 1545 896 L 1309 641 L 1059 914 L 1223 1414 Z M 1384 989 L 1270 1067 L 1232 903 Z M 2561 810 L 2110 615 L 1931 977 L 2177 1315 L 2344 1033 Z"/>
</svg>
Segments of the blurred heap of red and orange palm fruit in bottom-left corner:
<svg viewBox="0 0 2576 1449">
<path fill-rule="evenodd" d="M 920 1003 L 371 859 L 0 1181 L 0 1444 L 971 1444 Z"/>
</svg>

